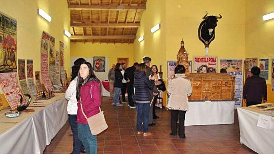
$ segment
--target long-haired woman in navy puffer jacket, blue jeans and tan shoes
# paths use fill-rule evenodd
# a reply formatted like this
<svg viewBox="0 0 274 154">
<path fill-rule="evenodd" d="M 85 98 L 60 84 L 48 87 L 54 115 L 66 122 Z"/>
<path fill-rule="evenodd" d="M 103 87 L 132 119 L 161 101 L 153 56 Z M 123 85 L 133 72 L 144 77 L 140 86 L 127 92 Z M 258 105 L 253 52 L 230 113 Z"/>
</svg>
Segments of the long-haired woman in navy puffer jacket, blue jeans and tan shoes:
<svg viewBox="0 0 274 154">
<path fill-rule="evenodd" d="M 137 134 L 143 136 L 152 135 L 149 132 L 149 108 L 150 108 L 150 90 L 154 85 L 146 76 L 146 65 L 144 63 L 138 64 L 134 73 L 134 87 L 135 87 L 135 102 L 137 103 Z M 142 121 L 143 128 L 142 129 Z"/>
</svg>

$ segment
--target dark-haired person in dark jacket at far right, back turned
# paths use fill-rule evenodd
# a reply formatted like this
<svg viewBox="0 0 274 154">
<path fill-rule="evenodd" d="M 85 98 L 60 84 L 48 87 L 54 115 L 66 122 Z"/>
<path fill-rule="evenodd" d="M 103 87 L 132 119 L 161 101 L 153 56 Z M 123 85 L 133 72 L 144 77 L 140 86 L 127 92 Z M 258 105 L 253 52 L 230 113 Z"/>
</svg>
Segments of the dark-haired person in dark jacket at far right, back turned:
<svg viewBox="0 0 274 154">
<path fill-rule="evenodd" d="M 267 101 L 267 84 L 264 78 L 259 77 L 260 71 L 260 68 L 254 66 L 251 69 L 253 76 L 248 77 L 243 86 L 243 99 L 247 106 Z"/>
</svg>

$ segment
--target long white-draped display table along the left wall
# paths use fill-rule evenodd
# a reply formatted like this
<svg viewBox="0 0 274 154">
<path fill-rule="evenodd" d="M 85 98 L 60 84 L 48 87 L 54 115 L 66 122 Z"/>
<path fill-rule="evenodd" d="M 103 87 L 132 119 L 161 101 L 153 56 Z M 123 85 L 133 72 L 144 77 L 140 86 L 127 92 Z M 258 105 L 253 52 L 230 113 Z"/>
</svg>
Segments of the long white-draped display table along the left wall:
<svg viewBox="0 0 274 154">
<path fill-rule="evenodd" d="M 0 124 L 1 153 L 43 153 L 68 119 L 64 94 L 55 94 L 50 100 L 43 100 L 43 103 L 45 107 L 30 106 L 28 109 L 34 109 L 35 112 L 22 113 L 17 118 L 5 117 L 8 109 L 0 111 L 0 122 L 17 122 Z"/>
</svg>

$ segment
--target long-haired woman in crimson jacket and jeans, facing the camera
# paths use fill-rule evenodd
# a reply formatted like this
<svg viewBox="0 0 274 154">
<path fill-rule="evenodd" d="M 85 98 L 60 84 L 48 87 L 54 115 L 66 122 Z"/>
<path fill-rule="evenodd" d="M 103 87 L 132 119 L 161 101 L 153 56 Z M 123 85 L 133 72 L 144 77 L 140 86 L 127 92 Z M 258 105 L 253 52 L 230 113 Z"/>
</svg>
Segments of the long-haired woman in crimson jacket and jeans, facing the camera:
<svg viewBox="0 0 274 154">
<path fill-rule="evenodd" d="M 78 137 L 82 141 L 88 154 L 97 153 L 97 136 L 92 135 L 90 131 L 87 119 L 82 113 L 81 102 L 87 118 L 99 113 L 99 106 L 101 105 L 100 91 L 100 80 L 95 76 L 91 64 L 88 62 L 82 63 L 77 79 L 77 123 Z"/>
</svg>

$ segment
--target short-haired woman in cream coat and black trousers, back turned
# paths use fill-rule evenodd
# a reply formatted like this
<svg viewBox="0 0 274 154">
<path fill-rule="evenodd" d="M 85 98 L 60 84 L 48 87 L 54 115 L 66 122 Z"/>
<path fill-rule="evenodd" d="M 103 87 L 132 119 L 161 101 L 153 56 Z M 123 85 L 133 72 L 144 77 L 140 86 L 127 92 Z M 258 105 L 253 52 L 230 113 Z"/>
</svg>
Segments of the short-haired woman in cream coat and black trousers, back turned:
<svg viewBox="0 0 274 154">
<path fill-rule="evenodd" d="M 178 65 L 174 71 L 175 77 L 168 81 L 168 109 L 171 110 L 170 135 L 177 136 L 178 133 L 180 139 L 184 139 L 186 138 L 185 115 L 188 110 L 187 97 L 192 93 L 192 86 L 191 82 L 185 78 L 186 69 L 183 65 Z"/>
</svg>

